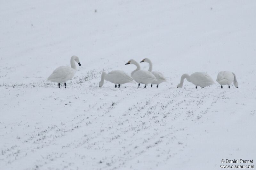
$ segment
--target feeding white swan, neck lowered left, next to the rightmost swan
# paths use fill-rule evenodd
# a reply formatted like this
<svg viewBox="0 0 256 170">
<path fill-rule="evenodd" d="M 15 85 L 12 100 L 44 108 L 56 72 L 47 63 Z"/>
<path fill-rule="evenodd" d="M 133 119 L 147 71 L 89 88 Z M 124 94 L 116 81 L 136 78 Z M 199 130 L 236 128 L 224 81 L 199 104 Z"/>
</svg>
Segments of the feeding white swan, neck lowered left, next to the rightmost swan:
<svg viewBox="0 0 256 170">
<path fill-rule="evenodd" d="M 177 88 L 182 87 L 185 78 L 187 79 L 188 82 L 195 84 L 196 89 L 197 86 L 204 88 L 206 86 L 214 84 L 214 81 L 212 80 L 210 75 L 204 72 L 196 72 L 191 74 L 190 76 L 188 74 L 183 74 L 180 78 L 180 84 L 178 84 Z"/>
</svg>

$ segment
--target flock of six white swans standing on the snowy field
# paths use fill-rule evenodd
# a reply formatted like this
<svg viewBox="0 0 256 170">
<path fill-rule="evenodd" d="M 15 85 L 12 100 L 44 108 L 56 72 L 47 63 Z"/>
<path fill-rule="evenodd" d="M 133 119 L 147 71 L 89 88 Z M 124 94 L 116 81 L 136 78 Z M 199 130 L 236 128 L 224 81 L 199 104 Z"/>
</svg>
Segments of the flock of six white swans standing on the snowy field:
<svg viewBox="0 0 256 170">
<path fill-rule="evenodd" d="M 71 80 L 73 76 L 76 73 L 76 64 L 75 61 L 78 63 L 79 66 L 81 66 L 79 58 L 77 56 L 72 56 L 70 59 L 70 65 L 69 66 L 60 66 L 56 68 L 52 74 L 48 77 L 48 81 L 52 82 L 57 82 L 58 86 L 60 88 L 60 83 L 64 82 L 65 88 L 67 85 L 67 81 Z M 153 84 L 156 84 L 157 88 L 160 83 L 162 82 L 167 82 L 166 78 L 164 75 L 160 72 L 157 71 L 152 71 L 152 62 L 148 58 L 143 59 L 140 61 L 140 63 L 149 63 L 149 68 L 148 71 L 146 70 L 141 70 L 140 69 L 140 64 L 135 61 L 135 60 L 129 60 L 125 65 L 128 64 L 134 64 L 137 68 L 132 71 L 131 76 L 124 71 L 121 70 L 115 70 L 111 71 L 109 73 L 102 72 L 101 74 L 101 80 L 99 82 L 99 86 L 102 87 L 104 84 L 104 80 L 110 81 L 115 84 L 115 87 L 120 88 L 120 85 L 125 84 L 125 83 L 139 83 L 138 88 L 140 87 L 140 84 L 144 84 L 144 88 L 147 87 L 148 84 L 151 84 L 151 87 Z M 207 73 L 204 72 L 196 72 L 191 75 L 188 74 L 183 74 L 180 78 L 180 83 L 177 85 L 177 88 L 181 88 L 183 86 L 184 79 L 187 79 L 188 82 L 193 83 L 197 86 L 204 88 L 207 86 L 210 86 L 214 84 L 214 81 L 212 80 L 211 76 L 208 75 Z M 233 82 L 234 86 L 238 88 L 238 82 L 236 80 L 236 75 L 235 73 L 232 73 L 230 71 L 221 71 L 216 80 L 219 84 L 221 89 L 223 88 L 224 85 L 228 85 L 228 88 L 230 89 L 230 85 Z"/>
</svg>

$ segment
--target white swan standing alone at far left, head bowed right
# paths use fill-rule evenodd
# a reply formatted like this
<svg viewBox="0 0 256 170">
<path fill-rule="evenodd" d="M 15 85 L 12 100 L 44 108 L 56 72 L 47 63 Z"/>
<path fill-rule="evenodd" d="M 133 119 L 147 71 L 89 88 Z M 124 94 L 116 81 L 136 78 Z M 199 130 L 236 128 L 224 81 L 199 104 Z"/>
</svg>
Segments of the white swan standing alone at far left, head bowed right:
<svg viewBox="0 0 256 170">
<path fill-rule="evenodd" d="M 52 74 L 48 77 L 48 81 L 56 82 L 59 83 L 59 88 L 60 88 L 60 83 L 64 82 L 65 88 L 66 88 L 66 81 L 71 80 L 72 77 L 76 73 L 76 64 L 75 61 L 78 63 L 79 66 L 81 66 L 79 62 L 79 58 L 75 55 L 73 55 L 70 59 L 70 65 L 69 66 L 60 66 L 56 68 Z"/>
</svg>

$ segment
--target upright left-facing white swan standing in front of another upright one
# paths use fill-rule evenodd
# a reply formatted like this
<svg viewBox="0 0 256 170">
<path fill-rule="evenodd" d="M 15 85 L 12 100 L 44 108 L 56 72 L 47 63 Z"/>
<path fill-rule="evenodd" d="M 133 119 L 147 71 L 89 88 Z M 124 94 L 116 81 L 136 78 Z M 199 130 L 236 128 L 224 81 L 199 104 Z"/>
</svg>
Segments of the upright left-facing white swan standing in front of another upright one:
<svg viewBox="0 0 256 170">
<path fill-rule="evenodd" d="M 147 84 L 152 83 L 153 81 L 157 81 L 154 74 L 152 74 L 150 71 L 140 70 L 140 64 L 135 60 L 128 61 L 127 64 L 134 64 L 137 68 L 132 71 L 131 76 L 133 80 L 139 83 L 138 88 L 140 87 L 140 83 L 145 84 L 145 87 L 147 87 Z"/>
</svg>

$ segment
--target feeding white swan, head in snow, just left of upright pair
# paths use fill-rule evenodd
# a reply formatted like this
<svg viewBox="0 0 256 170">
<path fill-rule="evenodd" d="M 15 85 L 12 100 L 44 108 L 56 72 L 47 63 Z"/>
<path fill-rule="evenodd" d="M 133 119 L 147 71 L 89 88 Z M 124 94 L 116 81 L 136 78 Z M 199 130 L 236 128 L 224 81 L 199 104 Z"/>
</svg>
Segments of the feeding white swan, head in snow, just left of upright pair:
<svg viewBox="0 0 256 170">
<path fill-rule="evenodd" d="M 120 84 L 134 83 L 132 77 L 121 70 L 115 70 L 109 73 L 106 73 L 105 71 L 103 71 L 101 74 L 101 80 L 99 82 L 100 87 L 103 86 L 104 79 L 107 81 L 110 81 L 111 83 L 114 83 L 115 87 L 116 87 L 116 84 L 118 84 L 118 88 L 120 88 Z"/>
</svg>

